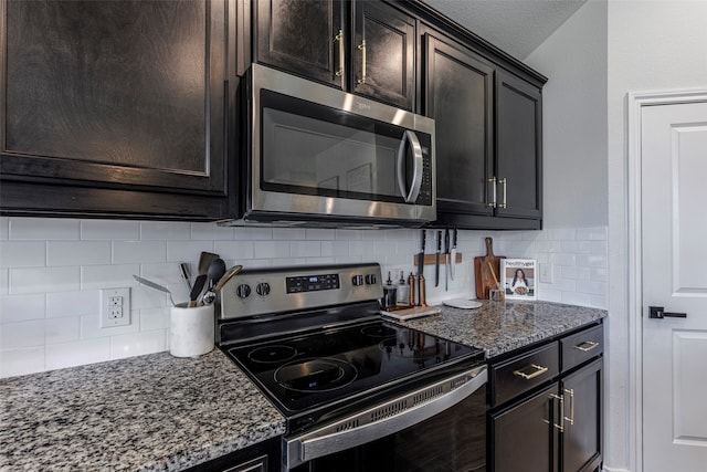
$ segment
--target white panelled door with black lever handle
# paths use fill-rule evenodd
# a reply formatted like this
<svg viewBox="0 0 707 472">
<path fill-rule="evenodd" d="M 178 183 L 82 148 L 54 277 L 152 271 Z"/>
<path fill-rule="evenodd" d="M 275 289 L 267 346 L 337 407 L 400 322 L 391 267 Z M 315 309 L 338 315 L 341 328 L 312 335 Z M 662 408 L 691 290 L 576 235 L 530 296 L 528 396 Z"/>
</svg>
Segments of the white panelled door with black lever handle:
<svg viewBox="0 0 707 472">
<path fill-rule="evenodd" d="M 643 470 L 705 472 L 707 103 L 641 109 Z"/>
</svg>

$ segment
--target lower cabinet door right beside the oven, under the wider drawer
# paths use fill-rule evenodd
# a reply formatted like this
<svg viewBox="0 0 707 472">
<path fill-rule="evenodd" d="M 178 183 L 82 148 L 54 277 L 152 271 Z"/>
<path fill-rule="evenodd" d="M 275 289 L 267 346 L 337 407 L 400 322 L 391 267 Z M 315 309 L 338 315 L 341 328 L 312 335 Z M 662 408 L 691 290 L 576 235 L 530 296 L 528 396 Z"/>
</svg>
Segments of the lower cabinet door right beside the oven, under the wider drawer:
<svg viewBox="0 0 707 472">
<path fill-rule="evenodd" d="M 523 402 L 490 415 L 490 469 L 494 472 L 553 472 L 557 470 L 558 385 Z"/>
</svg>

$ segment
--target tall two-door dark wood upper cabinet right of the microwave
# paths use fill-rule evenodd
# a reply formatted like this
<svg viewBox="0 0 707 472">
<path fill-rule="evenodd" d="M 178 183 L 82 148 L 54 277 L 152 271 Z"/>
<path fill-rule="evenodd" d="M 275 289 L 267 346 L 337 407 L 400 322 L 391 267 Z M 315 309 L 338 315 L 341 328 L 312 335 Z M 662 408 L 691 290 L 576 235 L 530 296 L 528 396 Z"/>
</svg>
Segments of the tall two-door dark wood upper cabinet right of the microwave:
<svg viewBox="0 0 707 472">
<path fill-rule="evenodd" d="M 436 124 L 437 227 L 539 229 L 541 91 L 440 33 L 423 35 Z"/>
</svg>

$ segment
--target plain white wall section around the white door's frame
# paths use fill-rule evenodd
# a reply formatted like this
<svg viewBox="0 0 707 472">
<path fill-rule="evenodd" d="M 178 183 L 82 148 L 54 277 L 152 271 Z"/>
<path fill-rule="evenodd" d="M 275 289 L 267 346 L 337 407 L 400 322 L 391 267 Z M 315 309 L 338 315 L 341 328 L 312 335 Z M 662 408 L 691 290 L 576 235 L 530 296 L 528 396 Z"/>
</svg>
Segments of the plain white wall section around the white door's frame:
<svg viewBox="0 0 707 472">
<path fill-rule="evenodd" d="M 707 90 L 707 2 L 609 1 L 609 306 L 608 442 L 614 470 L 636 470 L 641 444 L 630 433 L 626 231 L 626 94 Z M 640 324 L 639 324 L 640 325 Z M 630 444 L 624 451 L 621 444 Z"/>
</svg>

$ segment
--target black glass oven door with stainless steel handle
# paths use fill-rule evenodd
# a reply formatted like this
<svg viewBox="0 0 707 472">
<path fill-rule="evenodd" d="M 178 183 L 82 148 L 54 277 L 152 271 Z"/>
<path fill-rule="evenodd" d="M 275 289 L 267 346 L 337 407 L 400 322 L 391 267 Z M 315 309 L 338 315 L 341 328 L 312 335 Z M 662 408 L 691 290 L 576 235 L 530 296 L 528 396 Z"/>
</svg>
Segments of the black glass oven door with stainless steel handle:
<svg viewBox="0 0 707 472">
<path fill-rule="evenodd" d="M 486 366 L 285 439 L 284 470 L 486 469 Z"/>
</svg>

